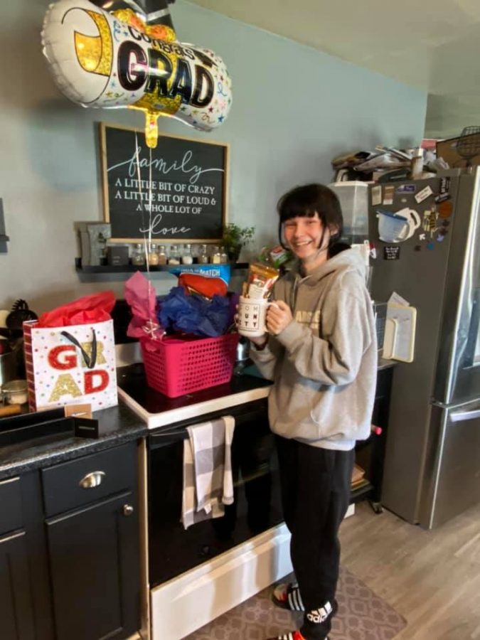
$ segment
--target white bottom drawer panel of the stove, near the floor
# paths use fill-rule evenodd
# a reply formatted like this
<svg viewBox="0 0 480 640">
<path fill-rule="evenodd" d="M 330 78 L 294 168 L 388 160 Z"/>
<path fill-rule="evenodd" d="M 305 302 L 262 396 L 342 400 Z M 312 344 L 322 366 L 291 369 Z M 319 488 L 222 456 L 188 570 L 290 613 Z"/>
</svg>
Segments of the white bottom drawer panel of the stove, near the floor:
<svg viewBox="0 0 480 640">
<path fill-rule="evenodd" d="M 181 640 L 292 571 L 282 524 L 151 590 L 151 639 Z"/>
</svg>

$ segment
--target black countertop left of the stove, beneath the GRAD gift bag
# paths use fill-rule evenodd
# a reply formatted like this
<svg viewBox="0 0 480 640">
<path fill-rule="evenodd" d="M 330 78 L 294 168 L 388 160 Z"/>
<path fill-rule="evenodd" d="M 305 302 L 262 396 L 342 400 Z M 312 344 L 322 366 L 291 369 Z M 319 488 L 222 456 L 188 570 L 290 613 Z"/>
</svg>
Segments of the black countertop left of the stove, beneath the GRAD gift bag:
<svg viewBox="0 0 480 640">
<path fill-rule="evenodd" d="M 144 421 L 122 404 L 95 411 L 92 417 L 99 421 L 102 429 L 102 436 L 98 439 L 79 438 L 73 432 L 62 432 L 0 447 L 0 480 L 23 471 L 110 449 L 122 442 L 143 437 L 148 432 Z"/>
</svg>

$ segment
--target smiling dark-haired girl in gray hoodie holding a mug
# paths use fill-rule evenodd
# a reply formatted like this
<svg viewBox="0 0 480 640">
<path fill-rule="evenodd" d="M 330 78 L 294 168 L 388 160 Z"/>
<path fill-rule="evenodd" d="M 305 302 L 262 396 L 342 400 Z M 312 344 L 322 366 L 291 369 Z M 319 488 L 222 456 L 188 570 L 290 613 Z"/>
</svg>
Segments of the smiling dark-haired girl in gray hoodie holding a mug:
<svg viewBox="0 0 480 640">
<path fill-rule="evenodd" d="M 269 419 L 297 579 L 279 585 L 272 599 L 304 611 L 301 629 L 280 639 L 325 640 L 338 608 L 338 528 L 350 498 L 353 449 L 370 434 L 375 321 L 363 259 L 338 242 L 336 195 L 320 184 L 296 187 L 280 198 L 278 213 L 280 242 L 297 261 L 274 287 L 269 334 L 250 338 L 252 359 L 274 381 Z"/>
</svg>

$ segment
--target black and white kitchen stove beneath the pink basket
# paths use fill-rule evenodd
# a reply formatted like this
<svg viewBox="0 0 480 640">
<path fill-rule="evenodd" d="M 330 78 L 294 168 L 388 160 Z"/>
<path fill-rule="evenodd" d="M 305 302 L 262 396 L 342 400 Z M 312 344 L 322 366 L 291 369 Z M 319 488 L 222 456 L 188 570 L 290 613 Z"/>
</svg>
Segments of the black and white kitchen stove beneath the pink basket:
<svg viewBox="0 0 480 640">
<path fill-rule="evenodd" d="M 117 368 L 119 398 L 151 430 L 146 489 L 152 640 L 180 640 L 292 570 L 268 426 L 271 384 L 250 361 L 235 368 L 229 383 L 167 398 L 149 388 L 143 363 Z M 186 427 L 225 414 L 235 418 L 235 501 L 225 506 L 223 518 L 183 530 Z"/>
</svg>

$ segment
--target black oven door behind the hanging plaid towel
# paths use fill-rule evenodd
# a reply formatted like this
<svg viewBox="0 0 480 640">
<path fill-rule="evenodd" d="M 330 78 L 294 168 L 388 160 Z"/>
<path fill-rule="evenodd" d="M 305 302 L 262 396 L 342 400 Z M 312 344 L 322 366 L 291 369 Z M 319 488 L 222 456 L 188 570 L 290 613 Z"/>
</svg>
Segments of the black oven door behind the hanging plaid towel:
<svg viewBox="0 0 480 640">
<path fill-rule="evenodd" d="M 227 414 L 235 417 L 234 502 L 225 506 L 222 518 L 184 530 L 180 518 L 186 427 Z M 266 399 L 164 427 L 151 433 L 148 441 L 150 587 L 282 522 L 277 456 L 268 426 Z"/>
</svg>

